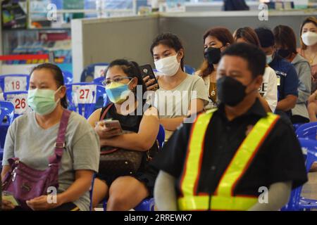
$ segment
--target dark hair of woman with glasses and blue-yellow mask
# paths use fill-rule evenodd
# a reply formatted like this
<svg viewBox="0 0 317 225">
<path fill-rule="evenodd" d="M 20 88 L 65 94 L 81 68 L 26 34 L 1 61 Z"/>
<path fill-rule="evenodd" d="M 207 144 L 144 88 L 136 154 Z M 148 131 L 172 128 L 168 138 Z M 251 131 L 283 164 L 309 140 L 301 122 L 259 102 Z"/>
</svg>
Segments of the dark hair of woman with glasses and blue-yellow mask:
<svg viewBox="0 0 317 225">
<path fill-rule="evenodd" d="M 146 102 L 145 99 L 143 99 L 145 92 L 147 91 L 147 86 L 145 86 L 144 82 L 143 82 L 143 78 L 141 75 L 141 70 L 139 69 L 139 65 L 135 62 L 135 61 L 128 61 L 125 59 L 116 59 L 113 60 L 109 65 L 108 68 L 106 70 L 106 72 L 104 72 L 104 77 L 106 78 L 106 73 L 108 72 L 108 70 L 110 68 L 113 68 L 114 66 L 118 66 L 121 68 L 121 70 L 123 70 L 123 72 L 128 75 L 128 77 L 135 78 L 137 77 L 137 85 L 142 86 L 142 104 L 144 105 L 144 103 Z M 137 97 L 137 95 L 136 95 Z"/>
</svg>

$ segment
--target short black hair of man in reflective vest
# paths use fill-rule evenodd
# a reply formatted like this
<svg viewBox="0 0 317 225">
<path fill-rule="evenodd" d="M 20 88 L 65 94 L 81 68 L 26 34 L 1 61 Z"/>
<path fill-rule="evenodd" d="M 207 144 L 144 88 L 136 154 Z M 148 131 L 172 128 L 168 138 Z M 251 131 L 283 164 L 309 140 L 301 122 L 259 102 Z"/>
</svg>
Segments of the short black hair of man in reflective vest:
<svg viewBox="0 0 317 225">
<path fill-rule="evenodd" d="M 264 70 L 266 69 L 266 54 L 261 49 L 251 44 L 232 44 L 228 49 L 223 51 L 222 56 L 238 56 L 247 60 L 248 68 L 254 78 L 263 75 Z"/>
</svg>

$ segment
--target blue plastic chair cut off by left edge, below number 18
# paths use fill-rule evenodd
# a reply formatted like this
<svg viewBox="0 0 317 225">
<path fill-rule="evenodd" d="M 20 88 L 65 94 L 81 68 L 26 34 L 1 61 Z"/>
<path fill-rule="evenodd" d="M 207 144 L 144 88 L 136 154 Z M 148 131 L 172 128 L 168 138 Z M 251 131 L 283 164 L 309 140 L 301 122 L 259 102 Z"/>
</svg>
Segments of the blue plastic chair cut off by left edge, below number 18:
<svg viewBox="0 0 317 225">
<path fill-rule="evenodd" d="M 9 101 L 0 101 L 0 161 L 4 156 L 4 141 L 6 140 L 6 132 L 8 127 L 14 120 L 14 105 Z M 6 117 L 6 122 L 4 122 Z"/>
</svg>

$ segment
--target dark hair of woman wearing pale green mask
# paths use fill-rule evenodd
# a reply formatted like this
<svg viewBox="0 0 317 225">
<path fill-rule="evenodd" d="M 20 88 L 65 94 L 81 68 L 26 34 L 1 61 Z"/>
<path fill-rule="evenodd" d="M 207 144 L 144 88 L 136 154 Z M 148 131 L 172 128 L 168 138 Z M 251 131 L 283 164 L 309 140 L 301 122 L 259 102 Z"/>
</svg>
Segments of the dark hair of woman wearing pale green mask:
<svg viewBox="0 0 317 225">
<path fill-rule="evenodd" d="M 49 70 L 54 77 L 57 88 L 65 85 L 63 72 L 61 68 L 59 68 L 57 65 L 54 65 L 52 63 L 43 63 L 37 65 L 34 68 L 32 68 L 30 75 L 32 75 L 32 73 L 35 72 L 35 70 Z M 66 95 L 63 98 L 61 98 L 61 105 L 63 106 L 63 108 L 68 107 Z"/>
</svg>

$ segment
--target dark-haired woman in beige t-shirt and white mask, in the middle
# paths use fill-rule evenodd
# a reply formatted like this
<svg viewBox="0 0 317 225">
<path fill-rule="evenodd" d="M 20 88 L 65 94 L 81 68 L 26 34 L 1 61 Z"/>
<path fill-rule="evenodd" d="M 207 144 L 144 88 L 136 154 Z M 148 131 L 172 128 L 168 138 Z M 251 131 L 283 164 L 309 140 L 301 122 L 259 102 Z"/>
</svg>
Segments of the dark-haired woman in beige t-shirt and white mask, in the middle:
<svg viewBox="0 0 317 225">
<path fill-rule="evenodd" d="M 160 123 L 166 129 L 166 139 L 189 115 L 204 109 L 208 94 L 203 79 L 187 75 L 184 68 L 184 48 L 175 34 L 160 34 L 151 45 L 151 54 L 159 75 L 159 89 L 152 105 L 159 110 Z M 147 85 L 149 86 L 149 84 Z"/>
</svg>

